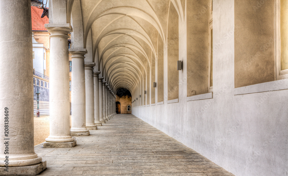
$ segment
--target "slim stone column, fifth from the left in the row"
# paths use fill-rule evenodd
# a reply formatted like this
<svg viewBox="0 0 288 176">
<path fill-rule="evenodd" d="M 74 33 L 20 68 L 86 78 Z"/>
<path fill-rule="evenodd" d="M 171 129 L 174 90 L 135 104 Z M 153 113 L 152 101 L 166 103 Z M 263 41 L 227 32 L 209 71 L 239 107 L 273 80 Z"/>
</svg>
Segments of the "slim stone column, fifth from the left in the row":
<svg viewBox="0 0 288 176">
<path fill-rule="evenodd" d="M 100 103 L 99 103 L 99 74 L 100 71 L 94 71 L 94 123 L 101 126 L 100 122 Z"/>
</svg>

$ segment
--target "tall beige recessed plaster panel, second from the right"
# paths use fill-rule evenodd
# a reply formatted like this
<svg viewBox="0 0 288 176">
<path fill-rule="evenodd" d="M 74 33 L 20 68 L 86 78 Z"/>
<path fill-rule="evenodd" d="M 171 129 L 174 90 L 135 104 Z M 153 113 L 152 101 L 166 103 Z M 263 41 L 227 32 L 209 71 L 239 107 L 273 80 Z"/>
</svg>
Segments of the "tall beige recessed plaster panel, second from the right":
<svg viewBox="0 0 288 176">
<path fill-rule="evenodd" d="M 208 93 L 209 0 L 187 3 L 187 96 Z"/>
</svg>

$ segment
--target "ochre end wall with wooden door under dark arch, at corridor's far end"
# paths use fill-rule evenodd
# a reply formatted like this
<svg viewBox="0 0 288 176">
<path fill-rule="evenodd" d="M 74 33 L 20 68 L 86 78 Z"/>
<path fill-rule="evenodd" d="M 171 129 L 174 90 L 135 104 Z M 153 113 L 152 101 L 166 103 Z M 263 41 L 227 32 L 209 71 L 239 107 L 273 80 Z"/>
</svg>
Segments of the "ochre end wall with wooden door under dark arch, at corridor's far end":
<svg viewBox="0 0 288 176">
<path fill-rule="evenodd" d="M 131 114 L 132 96 L 128 89 L 120 88 L 116 92 L 116 109 L 121 114 Z"/>
</svg>

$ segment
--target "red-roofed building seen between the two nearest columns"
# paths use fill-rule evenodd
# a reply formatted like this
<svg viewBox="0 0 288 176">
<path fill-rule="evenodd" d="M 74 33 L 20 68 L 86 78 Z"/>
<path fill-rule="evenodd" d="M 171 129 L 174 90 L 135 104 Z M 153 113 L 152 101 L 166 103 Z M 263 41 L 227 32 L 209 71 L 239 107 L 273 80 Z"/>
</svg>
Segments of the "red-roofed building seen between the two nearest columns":
<svg viewBox="0 0 288 176">
<path fill-rule="evenodd" d="M 37 116 L 37 86 L 39 87 L 40 116 L 49 116 L 49 71 L 50 71 L 50 38 L 47 29 L 48 18 L 41 18 L 42 10 L 39 2 L 31 1 L 32 45 L 33 45 L 33 84 L 34 84 L 34 116 Z"/>
</svg>

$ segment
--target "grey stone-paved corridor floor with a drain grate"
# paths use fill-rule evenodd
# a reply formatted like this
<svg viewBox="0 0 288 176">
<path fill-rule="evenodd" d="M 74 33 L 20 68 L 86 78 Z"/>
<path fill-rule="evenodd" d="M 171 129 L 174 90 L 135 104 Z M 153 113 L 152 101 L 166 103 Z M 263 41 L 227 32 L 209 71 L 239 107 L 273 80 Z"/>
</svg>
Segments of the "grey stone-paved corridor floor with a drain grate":
<svg viewBox="0 0 288 176">
<path fill-rule="evenodd" d="M 74 148 L 35 146 L 35 152 L 47 161 L 40 175 L 233 176 L 131 114 L 118 114 L 90 134 L 76 137 Z"/>
</svg>

